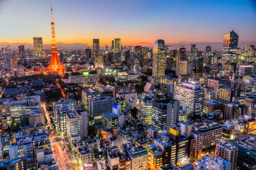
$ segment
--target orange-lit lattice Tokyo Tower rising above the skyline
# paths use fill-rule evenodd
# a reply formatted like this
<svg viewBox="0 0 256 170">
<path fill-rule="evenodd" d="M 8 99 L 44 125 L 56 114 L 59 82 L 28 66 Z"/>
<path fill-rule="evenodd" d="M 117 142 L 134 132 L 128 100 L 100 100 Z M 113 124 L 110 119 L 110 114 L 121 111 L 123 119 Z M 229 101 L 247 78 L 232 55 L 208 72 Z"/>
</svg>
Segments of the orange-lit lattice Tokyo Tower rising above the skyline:
<svg viewBox="0 0 256 170">
<path fill-rule="evenodd" d="M 52 8 L 51 8 L 52 9 Z M 60 59 L 58 57 L 58 49 L 56 45 L 56 39 L 55 39 L 55 28 L 53 23 L 53 17 L 52 17 L 52 57 L 51 62 L 47 68 L 46 73 L 55 73 L 58 75 L 63 75 L 65 73 L 64 65 L 61 64 Z"/>
</svg>

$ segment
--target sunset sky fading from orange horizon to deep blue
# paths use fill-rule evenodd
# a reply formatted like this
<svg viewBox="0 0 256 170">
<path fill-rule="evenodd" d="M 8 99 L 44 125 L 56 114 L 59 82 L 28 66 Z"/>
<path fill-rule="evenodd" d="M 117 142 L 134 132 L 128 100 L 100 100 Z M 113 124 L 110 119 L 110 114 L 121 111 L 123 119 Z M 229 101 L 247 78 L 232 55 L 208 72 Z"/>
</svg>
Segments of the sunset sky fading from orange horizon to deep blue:
<svg viewBox="0 0 256 170">
<path fill-rule="evenodd" d="M 222 42 L 232 29 L 239 42 L 256 41 L 253 0 L 0 0 L 0 43 L 49 44 L 51 5 L 57 42 Z"/>
</svg>

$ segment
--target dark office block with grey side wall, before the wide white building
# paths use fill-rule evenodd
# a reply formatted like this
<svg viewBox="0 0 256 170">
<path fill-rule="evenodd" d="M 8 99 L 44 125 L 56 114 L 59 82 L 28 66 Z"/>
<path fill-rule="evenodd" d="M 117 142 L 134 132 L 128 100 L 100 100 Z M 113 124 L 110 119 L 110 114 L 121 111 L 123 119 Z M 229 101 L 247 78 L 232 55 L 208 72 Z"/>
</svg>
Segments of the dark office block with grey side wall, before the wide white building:
<svg viewBox="0 0 256 170">
<path fill-rule="evenodd" d="M 179 121 L 180 101 L 176 99 L 163 99 L 152 101 L 152 126 L 158 130 L 169 127 Z M 169 128 L 166 129 L 169 133 Z"/>
</svg>

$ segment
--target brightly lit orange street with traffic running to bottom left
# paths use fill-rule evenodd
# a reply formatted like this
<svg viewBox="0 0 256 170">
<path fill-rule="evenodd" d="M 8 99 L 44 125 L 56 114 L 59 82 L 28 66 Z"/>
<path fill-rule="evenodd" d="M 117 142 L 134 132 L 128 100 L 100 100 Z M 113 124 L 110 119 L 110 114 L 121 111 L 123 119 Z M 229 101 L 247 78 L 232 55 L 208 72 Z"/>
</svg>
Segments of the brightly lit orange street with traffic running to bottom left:
<svg viewBox="0 0 256 170">
<path fill-rule="evenodd" d="M 44 109 L 45 116 L 48 120 L 48 125 L 50 127 L 50 130 L 52 130 L 53 126 L 51 124 L 49 114 L 46 109 L 46 105 L 42 104 L 41 107 Z M 50 135 L 50 142 L 52 144 L 53 152 L 55 153 L 55 160 L 58 161 L 58 166 L 60 170 L 68 170 L 71 168 L 73 169 L 73 167 L 75 168 L 75 170 L 79 170 L 79 167 L 74 163 L 75 161 L 73 160 L 73 157 L 66 145 L 66 141 L 64 140 L 64 137 L 56 136 L 52 132 Z"/>
</svg>

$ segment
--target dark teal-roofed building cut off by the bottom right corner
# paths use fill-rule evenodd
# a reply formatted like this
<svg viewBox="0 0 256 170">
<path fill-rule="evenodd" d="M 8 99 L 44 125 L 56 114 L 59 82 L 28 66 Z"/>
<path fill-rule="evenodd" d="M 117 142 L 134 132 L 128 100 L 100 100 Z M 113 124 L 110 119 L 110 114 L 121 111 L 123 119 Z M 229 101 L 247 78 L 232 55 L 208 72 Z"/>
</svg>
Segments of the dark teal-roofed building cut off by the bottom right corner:
<svg viewBox="0 0 256 170">
<path fill-rule="evenodd" d="M 229 140 L 229 143 L 238 147 L 238 156 L 236 161 L 236 169 L 238 170 L 254 170 L 256 167 L 256 142 L 255 134 L 247 134 L 236 139 Z M 246 146 L 246 147 L 244 147 Z"/>
</svg>

